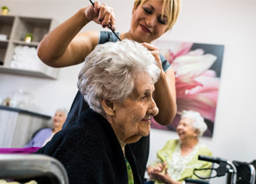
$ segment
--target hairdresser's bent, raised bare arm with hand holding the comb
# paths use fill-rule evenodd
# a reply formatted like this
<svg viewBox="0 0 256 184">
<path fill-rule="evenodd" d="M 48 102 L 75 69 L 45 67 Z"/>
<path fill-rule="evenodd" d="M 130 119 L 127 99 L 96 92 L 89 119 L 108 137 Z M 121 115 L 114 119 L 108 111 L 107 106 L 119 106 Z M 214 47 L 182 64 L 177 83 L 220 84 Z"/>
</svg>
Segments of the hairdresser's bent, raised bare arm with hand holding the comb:
<svg viewBox="0 0 256 184">
<path fill-rule="evenodd" d="M 61 23 L 41 41 L 37 54 L 51 67 L 67 67 L 81 63 L 93 51 L 99 39 L 99 32 L 80 33 L 88 22 L 94 21 L 106 27 L 110 22 L 115 29 L 112 8 L 99 2 L 79 10 L 74 16 Z"/>
</svg>

